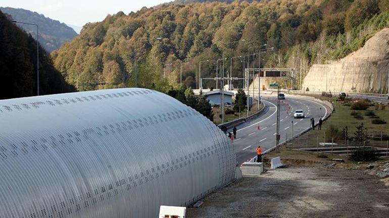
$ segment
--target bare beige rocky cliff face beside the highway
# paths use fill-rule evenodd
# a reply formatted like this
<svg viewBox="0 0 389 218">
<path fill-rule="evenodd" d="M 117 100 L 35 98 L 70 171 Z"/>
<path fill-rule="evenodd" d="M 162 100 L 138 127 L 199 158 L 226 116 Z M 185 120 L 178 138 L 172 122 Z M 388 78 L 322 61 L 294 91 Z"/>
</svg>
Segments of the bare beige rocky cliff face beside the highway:
<svg viewBox="0 0 389 218">
<path fill-rule="evenodd" d="M 313 65 L 303 87 L 310 91 L 387 92 L 389 28 L 382 29 L 365 45 L 331 64 Z"/>
</svg>

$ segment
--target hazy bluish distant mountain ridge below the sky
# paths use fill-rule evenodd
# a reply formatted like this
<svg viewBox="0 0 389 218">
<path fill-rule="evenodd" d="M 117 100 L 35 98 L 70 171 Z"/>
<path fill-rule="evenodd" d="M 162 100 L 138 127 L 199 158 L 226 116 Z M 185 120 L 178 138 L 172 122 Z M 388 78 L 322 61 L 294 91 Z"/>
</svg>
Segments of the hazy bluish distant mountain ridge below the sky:
<svg viewBox="0 0 389 218">
<path fill-rule="evenodd" d="M 57 20 L 53 20 L 45 17 L 42 14 L 28 11 L 25 9 L 15 8 L 3 8 L 0 7 L 3 13 L 11 15 L 13 20 L 34 23 L 39 26 L 39 43 L 48 52 L 52 52 L 61 47 L 64 42 L 73 40 L 78 34 L 73 28 L 61 23 Z M 36 27 L 25 24 L 18 24 L 27 33 L 30 33 L 34 39 L 36 39 Z"/>
</svg>

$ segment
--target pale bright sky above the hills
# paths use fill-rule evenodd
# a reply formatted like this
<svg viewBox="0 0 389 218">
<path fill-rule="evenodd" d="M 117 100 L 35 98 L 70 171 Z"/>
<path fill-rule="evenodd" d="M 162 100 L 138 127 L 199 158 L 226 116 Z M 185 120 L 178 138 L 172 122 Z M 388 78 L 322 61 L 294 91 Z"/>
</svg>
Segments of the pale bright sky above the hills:
<svg viewBox="0 0 389 218">
<path fill-rule="evenodd" d="M 1 7 L 22 8 L 75 26 L 102 21 L 108 14 L 125 14 L 172 0 L 1 0 Z"/>
</svg>

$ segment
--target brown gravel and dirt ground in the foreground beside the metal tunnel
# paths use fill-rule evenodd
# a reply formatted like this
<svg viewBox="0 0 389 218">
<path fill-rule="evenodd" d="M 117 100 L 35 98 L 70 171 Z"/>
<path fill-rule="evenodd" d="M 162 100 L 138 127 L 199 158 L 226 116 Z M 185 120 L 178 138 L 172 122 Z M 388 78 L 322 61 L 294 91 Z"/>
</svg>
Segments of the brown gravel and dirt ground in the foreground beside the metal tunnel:
<svg viewBox="0 0 389 218">
<path fill-rule="evenodd" d="M 358 170 L 290 167 L 242 178 L 186 217 L 389 217 L 389 189 Z"/>
</svg>

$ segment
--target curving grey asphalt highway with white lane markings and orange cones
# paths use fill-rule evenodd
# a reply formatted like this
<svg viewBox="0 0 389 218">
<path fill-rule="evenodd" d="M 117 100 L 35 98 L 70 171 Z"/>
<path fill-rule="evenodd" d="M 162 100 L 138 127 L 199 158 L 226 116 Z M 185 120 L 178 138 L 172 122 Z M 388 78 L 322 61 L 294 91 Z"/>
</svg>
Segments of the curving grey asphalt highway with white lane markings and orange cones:
<svg viewBox="0 0 389 218">
<path fill-rule="evenodd" d="M 256 155 L 258 145 L 267 150 L 275 146 L 276 133 L 276 118 L 277 118 L 277 102 L 276 96 L 262 96 L 264 104 L 267 106 L 265 112 L 255 120 L 238 125 L 236 139 L 233 141 L 233 146 L 236 152 L 238 163 L 242 163 L 251 159 Z M 315 123 L 321 117 L 325 117 L 330 113 L 330 108 L 320 102 L 304 97 L 288 97 L 282 100 L 280 105 L 280 135 L 281 142 L 290 138 L 292 134 L 296 135 L 305 129 L 309 128 L 310 118 L 315 119 Z M 303 110 L 306 114 L 305 119 L 294 119 L 293 114 L 296 110 Z M 292 124 L 293 121 L 293 124 Z M 258 126 L 260 129 L 258 130 Z M 293 126 L 293 127 L 292 127 Z M 232 133 L 232 129 L 228 130 Z"/>
</svg>

